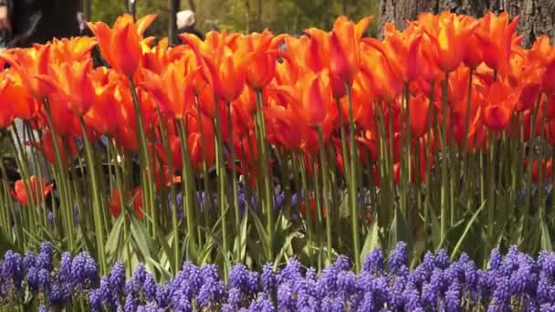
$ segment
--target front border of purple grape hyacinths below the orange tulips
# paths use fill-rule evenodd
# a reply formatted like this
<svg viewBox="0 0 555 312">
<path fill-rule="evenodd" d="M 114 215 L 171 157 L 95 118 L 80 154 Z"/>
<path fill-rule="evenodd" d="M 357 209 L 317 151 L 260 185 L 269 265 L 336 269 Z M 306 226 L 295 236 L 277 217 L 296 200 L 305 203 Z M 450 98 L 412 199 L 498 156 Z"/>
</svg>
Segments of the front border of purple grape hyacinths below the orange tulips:
<svg viewBox="0 0 555 312">
<path fill-rule="evenodd" d="M 98 278 L 87 254 L 64 254 L 54 269 L 49 244 L 38 255 L 6 253 L 0 269 L 2 304 L 28 287 L 46 295 L 45 309 L 87 294 L 91 311 L 555 311 L 555 253 L 534 259 L 516 247 L 505 256 L 493 250 L 484 270 L 465 254 L 451 262 L 444 250 L 410 270 L 406 244 L 399 243 L 387 257 L 374 249 L 359 274 L 345 256 L 320 274 L 291 259 L 260 273 L 234 265 L 227 283 L 217 266 L 189 262 L 164 284 L 144 265 L 126 279 L 117 263 Z"/>
</svg>

